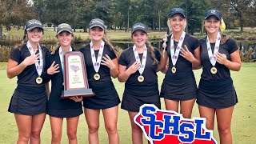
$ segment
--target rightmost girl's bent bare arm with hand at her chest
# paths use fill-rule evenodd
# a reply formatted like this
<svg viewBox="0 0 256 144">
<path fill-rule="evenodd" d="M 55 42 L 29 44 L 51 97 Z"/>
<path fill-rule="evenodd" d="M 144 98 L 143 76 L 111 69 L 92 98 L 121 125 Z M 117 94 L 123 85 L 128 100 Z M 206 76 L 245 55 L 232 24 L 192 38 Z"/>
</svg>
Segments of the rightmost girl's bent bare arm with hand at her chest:
<svg viewBox="0 0 256 144">
<path fill-rule="evenodd" d="M 242 62 L 238 50 L 230 54 L 230 60 L 226 59 L 226 54 L 221 54 L 219 52 L 214 55 L 214 59 L 216 62 L 225 65 L 230 70 L 239 71 L 241 69 Z"/>
</svg>

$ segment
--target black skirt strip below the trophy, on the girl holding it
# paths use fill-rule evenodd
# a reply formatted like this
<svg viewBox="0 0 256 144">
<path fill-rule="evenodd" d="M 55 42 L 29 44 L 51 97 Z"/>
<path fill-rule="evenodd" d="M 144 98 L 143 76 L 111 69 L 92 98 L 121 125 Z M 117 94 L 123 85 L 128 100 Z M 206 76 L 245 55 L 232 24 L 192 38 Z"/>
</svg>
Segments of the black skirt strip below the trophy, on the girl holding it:
<svg viewBox="0 0 256 144">
<path fill-rule="evenodd" d="M 82 114 L 82 107 L 78 109 L 47 109 L 46 114 L 56 118 L 73 118 Z"/>
</svg>

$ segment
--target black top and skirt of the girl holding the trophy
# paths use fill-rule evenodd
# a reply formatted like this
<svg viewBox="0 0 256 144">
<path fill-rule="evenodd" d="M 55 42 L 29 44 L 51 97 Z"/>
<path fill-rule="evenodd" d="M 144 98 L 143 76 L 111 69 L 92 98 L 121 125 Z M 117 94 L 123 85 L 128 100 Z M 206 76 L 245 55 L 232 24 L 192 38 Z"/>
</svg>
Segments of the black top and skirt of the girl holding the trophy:
<svg viewBox="0 0 256 144">
<path fill-rule="evenodd" d="M 77 117 L 82 114 L 82 102 L 74 102 L 70 98 L 61 99 L 62 91 L 64 90 L 63 86 L 63 67 L 61 64 L 60 47 L 55 51 L 54 54 L 47 54 L 46 65 L 50 65 L 55 61 L 55 65 L 58 64 L 59 71 L 56 74 L 45 74 L 42 75 L 42 78 L 46 81 L 51 80 L 51 90 L 50 97 L 47 104 L 46 114 L 57 117 L 57 118 L 72 118 Z M 72 49 L 74 51 L 74 49 Z M 62 55 L 61 55 L 62 57 Z"/>
</svg>

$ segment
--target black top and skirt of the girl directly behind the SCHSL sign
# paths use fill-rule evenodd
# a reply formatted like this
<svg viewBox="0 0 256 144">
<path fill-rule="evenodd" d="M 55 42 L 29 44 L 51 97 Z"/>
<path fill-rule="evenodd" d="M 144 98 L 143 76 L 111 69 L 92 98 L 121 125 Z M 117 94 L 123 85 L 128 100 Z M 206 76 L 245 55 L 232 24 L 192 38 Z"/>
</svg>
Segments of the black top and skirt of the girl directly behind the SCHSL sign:
<svg viewBox="0 0 256 144">
<path fill-rule="evenodd" d="M 160 61 L 161 54 L 159 50 L 154 49 L 155 58 Z M 143 54 L 138 54 L 140 61 L 142 62 Z M 119 64 L 126 66 L 128 69 L 135 62 L 133 47 L 123 50 L 120 58 Z M 161 109 L 159 90 L 158 90 L 158 75 L 157 67 L 158 65 L 153 65 L 154 59 L 148 52 L 146 55 L 146 65 L 142 76 L 144 77 L 143 82 L 138 82 L 138 76 L 140 73 L 137 71 L 131 74 L 127 79 L 125 84 L 125 90 L 122 96 L 123 110 L 128 110 L 132 112 L 138 112 L 139 107 L 143 104 L 154 104 L 159 109 Z"/>
</svg>

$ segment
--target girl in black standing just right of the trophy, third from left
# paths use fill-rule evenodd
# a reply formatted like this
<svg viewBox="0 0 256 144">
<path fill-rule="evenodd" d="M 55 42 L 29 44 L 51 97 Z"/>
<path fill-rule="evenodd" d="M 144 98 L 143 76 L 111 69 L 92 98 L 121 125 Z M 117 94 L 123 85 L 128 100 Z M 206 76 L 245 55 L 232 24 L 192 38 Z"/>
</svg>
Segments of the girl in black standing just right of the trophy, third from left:
<svg viewBox="0 0 256 144">
<path fill-rule="evenodd" d="M 86 73 L 93 97 L 83 99 L 84 113 L 89 130 L 89 143 L 98 143 L 99 114 L 102 110 L 109 143 L 119 143 L 118 104 L 120 99 L 114 88 L 112 78 L 117 78 L 118 58 L 106 38 L 106 26 L 102 19 L 90 21 L 90 44 L 82 47 L 86 61 Z"/>
</svg>

